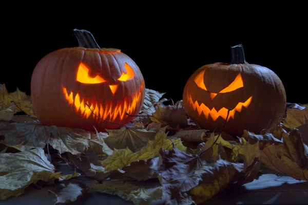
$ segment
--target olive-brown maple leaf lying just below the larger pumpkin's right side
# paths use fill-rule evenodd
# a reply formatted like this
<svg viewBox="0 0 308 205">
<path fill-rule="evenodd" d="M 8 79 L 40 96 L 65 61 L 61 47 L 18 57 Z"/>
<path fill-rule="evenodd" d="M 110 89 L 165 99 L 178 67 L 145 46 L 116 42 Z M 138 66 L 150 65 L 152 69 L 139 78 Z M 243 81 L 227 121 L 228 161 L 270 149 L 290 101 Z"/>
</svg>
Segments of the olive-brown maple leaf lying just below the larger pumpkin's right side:
<svg viewBox="0 0 308 205">
<path fill-rule="evenodd" d="M 106 131 L 109 137 L 105 139 L 105 142 L 110 148 L 128 147 L 134 153 L 145 147 L 148 141 L 154 139 L 156 135 L 155 131 L 147 131 L 143 127 L 122 127 Z"/>
</svg>

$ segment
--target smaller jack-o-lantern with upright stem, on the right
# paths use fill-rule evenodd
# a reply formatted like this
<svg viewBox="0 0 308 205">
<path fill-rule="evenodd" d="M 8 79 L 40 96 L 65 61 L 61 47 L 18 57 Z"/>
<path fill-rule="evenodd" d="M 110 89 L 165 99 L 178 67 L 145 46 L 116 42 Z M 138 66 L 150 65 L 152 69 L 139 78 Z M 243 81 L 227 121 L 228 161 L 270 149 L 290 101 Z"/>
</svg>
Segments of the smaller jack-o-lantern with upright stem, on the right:
<svg viewBox="0 0 308 205">
<path fill-rule="evenodd" d="M 186 82 L 183 106 L 200 127 L 241 136 L 244 129 L 267 132 L 284 114 L 284 86 L 272 70 L 245 60 L 242 45 L 232 47 L 232 61 L 197 69 Z M 230 108 L 228 118 L 227 112 Z"/>
</svg>

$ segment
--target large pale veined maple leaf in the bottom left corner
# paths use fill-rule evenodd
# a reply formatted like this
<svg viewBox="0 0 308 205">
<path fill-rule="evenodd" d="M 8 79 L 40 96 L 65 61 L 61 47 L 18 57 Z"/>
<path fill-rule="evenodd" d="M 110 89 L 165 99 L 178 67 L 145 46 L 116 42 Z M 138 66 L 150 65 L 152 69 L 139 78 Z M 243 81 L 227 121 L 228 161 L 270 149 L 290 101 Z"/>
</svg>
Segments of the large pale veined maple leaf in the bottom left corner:
<svg viewBox="0 0 308 205">
<path fill-rule="evenodd" d="M 60 172 L 47 160 L 42 148 L 20 153 L 0 154 L 0 199 L 19 196 L 38 180 L 52 182 Z"/>
</svg>

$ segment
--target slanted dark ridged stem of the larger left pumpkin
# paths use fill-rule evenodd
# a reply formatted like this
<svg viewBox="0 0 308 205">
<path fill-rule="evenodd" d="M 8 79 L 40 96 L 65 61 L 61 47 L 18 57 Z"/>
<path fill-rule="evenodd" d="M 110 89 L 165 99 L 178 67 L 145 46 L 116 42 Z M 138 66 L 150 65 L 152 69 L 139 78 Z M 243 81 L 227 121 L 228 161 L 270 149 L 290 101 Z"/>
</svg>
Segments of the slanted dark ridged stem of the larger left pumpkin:
<svg viewBox="0 0 308 205">
<path fill-rule="evenodd" d="M 76 36 L 76 39 L 78 40 L 78 46 L 84 47 L 84 48 L 101 48 L 97 42 L 95 41 L 92 33 L 87 30 L 79 30 L 74 29 L 73 34 Z"/>
</svg>

